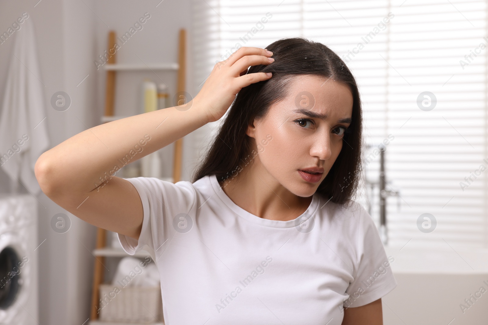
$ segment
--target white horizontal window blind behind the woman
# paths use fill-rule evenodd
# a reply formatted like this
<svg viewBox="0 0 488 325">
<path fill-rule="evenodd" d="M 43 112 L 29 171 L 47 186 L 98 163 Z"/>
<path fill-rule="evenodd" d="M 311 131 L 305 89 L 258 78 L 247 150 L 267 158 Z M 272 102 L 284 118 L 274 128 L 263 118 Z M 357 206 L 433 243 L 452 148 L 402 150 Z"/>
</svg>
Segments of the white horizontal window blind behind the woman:
<svg viewBox="0 0 488 325">
<path fill-rule="evenodd" d="M 379 179 L 373 149 L 389 140 L 387 189 L 400 195 L 387 199 L 389 244 L 488 247 L 486 0 L 194 0 L 193 9 L 195 93 L 237 44 L 297 36 L 324 43 L 359 85 L 372 146 L 368 180 Z M 424 92 L 436 98 L 431 110 L 417 103 Z M 213 133 L 206 131 L 218 124 L 202 128 L 207 143 Z M 366 189 L 358 198 L 365 205 Z M 378 198 L 375 187 L 369 202 L 377 224 Z M 417 226 L 423 213 L 437 221 L 430 233 Z"/>
</svg>

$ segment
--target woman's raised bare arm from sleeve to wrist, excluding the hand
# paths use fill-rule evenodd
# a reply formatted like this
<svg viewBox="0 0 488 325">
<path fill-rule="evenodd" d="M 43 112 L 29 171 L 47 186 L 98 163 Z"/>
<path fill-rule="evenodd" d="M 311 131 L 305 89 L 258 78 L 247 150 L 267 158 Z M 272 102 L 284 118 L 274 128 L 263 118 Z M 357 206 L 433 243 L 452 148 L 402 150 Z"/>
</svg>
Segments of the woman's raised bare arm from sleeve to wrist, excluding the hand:
<svg viewBox="0 0 488 325">
<path fill-rule="evenodd" d="M 129 181 L 110 175 L 116 166 L 120 169 L 203 126 L 207 117 L 202 112 L 171 107 L 76 134 L 39 157 L 36 177 L 41 189 L 84 221 L 139 238 L 139 194 Z"/>
</svg>

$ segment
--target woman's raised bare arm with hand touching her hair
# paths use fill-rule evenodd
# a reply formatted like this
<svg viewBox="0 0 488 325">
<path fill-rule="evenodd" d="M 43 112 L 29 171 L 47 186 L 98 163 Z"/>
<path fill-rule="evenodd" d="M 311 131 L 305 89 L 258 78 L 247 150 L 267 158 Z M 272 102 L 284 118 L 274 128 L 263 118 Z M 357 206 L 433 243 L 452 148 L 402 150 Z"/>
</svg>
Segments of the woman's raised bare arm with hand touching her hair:
<svg viewBox="0 0 488 325">
<path fill-rule="evenodd" d="M 139 239 L 141 199 L 129 181 L 110 176 L 116 166 L 122 168 L 124 157 L 134 162 L 218 120 L 243 87 L 270 78 L 264 73 L 243 75 L 250 65 L 270 63 L 267 57 L 264 49 L 241 48 L 215 65 L 186 105 L 98 125 L 42 153 L 35 166 L 41 190 L 84 221 Z"/>
</svg>

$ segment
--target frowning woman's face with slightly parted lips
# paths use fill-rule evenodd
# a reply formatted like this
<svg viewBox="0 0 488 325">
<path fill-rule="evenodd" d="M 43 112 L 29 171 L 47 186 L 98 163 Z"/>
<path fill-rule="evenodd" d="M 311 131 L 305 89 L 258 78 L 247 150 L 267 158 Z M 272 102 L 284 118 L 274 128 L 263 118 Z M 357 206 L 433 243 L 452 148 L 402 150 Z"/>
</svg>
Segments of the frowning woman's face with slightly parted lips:
<svg viewBox="0 0 488 325">
<path fill-rule="evenodd" d="M 324 180 L 343 146 L 351 123 L 349 87 L 333 78 L 297 75 L 286 98 L 249 126 L 247 135 L 269 175 L 288 191 L 308 197 Z M 303 170 L 315 168 L 315 175 Z M 271 178 L 271 179 L 272 179 Z"/>
</svg>

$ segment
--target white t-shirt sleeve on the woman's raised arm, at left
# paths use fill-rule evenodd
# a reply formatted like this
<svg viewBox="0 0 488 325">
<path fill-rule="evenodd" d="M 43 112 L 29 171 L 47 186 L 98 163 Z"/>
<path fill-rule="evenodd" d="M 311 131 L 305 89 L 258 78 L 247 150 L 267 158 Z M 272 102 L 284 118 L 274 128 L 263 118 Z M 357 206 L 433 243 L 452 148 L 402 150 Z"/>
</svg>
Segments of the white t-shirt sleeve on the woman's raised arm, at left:
<svg viewBox="0 0 488 325">
<path fill-rule="evenodd" d="M 134 185 L 141 198 L 142 229 L 139 240 L 117 233 L 119 242 L 129 255 L 134 255 L 147 245 L 155 252 L 157 259 L 164 250 L 163 244 L 176 231 L 173 227 L 174 218 L 192 224 L 192 220 L 187 218 L 193 218 L 195 214 L 196 191 L 188 181 L 171 183 L 155 177 L 126 180 Z"/>
</svg>

